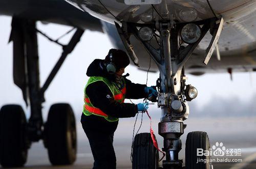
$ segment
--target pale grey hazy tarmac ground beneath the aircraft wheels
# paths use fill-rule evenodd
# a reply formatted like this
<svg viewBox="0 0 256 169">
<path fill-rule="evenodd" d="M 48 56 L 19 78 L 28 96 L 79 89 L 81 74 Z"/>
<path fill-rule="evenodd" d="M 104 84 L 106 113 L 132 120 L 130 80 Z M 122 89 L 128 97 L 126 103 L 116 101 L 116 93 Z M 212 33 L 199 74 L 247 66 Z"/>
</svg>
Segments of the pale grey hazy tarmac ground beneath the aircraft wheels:
<svg viewBox="0 0 256 169">
<path fill-rule="evenodd" d="M 140 118 L 140 117 L 138 117 Z M 140 125 L 140 119 L 138 119 L 136 129 Z M 79 122 L 79 120 L 77 120 Z M 114 148 L 117 156 L 117 168 L 132 168 L 130 161 L 131 142 L 133 136 L 133 125 L 135 118 L 120 119 L 119 126 L 114 136 Z M 153 119 L 153 129 L 157 135 L 159 147 L 162 147 L 162 137 L 157 134 L 157 124 L 159 119 Z M 140 132 L 149 131 L 150 121 L 146 116 L 143 117 L 142 127 Z M 212 162 L 215 169 L 255 169 L 256 168 L 256 117 L 230 117 L 230 118 L 191 118 L 185 121 L 187 128 L 185 133 L 181 137 L 182 139 L 182 151 L 180 152 L 180 159 L 185 162 L 185 139 L 186 135 L 190 131 L 206 131 L 209 135 L 211 146 L 216 146 L 216 150 L 223 147 L 225 149 L 241 149 L 241 156 L 238 154 L 226 153 L 225 156 L 215 156 L 213 159 L 227 160 L 230 162 Z M 135 130 L 137 131 L 137 130 Z M 29 150 L 28 161 L 24 168 L 92 168 L 93 156 L 88 143 L 86 135 L 83 133 L 81 125 L 77 123 L 78 133 L 78 153 L 77 160 L 73 165 L 68 166 L 51 166 L 47 150 L 44 148 L 42 141 L 33 143 Z M 216 142 L 222 142 L 223 146 L 218 147 Z M 236 153 L 236 152 L 235 152 Z M 161 154 L 160 154 L 161 157 Z M 236 160 L 242 160 L 242 162 L 233 162 Z M 161 165 L 161 162 L 160 162 Z M 183 164 L 185 165 L 185 164 Z M 0 167 L 1 168 L 1 167 Z"/>
</svg>

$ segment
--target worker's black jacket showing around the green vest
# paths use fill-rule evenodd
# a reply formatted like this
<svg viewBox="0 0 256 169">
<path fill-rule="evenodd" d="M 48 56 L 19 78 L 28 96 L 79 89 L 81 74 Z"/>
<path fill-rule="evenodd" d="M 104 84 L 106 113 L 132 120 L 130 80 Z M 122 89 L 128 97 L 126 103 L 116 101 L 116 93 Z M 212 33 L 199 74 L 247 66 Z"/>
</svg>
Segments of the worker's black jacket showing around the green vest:
<svg viewBox="0 0 256 169">
<path fill-rule="evenodd" d="M 100 76 L 111 80 L 111 76 L 107 73 L 103 60 L 95 59 L 87 69 L 87 76 Z M 146 97 L 144 88 L 146 85 L 135 84 L 125 78 L 126 83 L 126 99 L 142 99 Z M 138 113 L 137 105 L 131 103 L 119 103 L 114 101 L 113 94 L 109 87 L 102 81 L 94 82 L 87 86 L 86 94 L 88 95 L 93 106 L 101 109 L 104 113 L 113 117 L 134 117 Z M 111 97 L 107 97 L 110 95 Z M 104 130 L 114 132 L 118 122 L 108 122 L 106 119 L 96 115 L 86 116 L 86 123 L 98 124 Z M 94 126 L 91 124 L 90 126 Z M 95 126 L 93 127 L 95 129 Z M 97 128 L 97 127 L 96 127 Z M 102 128 L 101 128 L 102 129 Z M 99 128 L 99 130 L 101 130 Z M 103 130 L 103 129 L 102 129 Z"/>
</svg>

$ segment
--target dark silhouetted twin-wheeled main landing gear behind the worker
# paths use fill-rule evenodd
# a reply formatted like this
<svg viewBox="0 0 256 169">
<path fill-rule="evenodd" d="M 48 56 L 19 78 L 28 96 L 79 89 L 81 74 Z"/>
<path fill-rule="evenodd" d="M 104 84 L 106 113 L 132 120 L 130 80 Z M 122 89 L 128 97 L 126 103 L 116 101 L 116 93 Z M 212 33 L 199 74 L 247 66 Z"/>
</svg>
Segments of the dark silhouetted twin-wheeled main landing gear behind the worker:
<svg viewBox="0 0 256 169">
<path fill-rule="evenodd" d="M 42 120 L 44 93 L 57 74 L 84 30 L 77 29 L 54 66 L 45 84 L 40 87 L 39 57 L 36 21 L 13 17 L 10 40 L 13 41 L 13 79 L 23 91 L 30 106 L 27 122 L 22 107 L 3 106 L 0 111 L 0 164 L 3 167 L 23 166 L 27 161 L 30 144 L 44 139 L 50 162 L 54 165 L 72 164 L 76 159 L 76 126 L 74 112 L 69 104 L 55 104 L 50 108 L 46 125 Z M 46 36 L 46 35 L 44 35 Z M 29 104 L 28 104 L 29 103 Z"/>
</svg>

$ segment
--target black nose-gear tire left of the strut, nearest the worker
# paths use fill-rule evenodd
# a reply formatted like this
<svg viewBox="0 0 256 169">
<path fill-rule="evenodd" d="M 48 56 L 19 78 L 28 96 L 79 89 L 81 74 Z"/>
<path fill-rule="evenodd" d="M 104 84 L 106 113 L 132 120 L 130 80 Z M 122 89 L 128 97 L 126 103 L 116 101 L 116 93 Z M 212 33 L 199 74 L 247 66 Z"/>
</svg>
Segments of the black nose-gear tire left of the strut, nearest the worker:
<svg viewBox="0 0 256 169">
<path fill-rule="evenodd" d="M 137 134 L 133 142 L 133 169 L 159 168 L 159 153 L 150 133 Z"/>
</svg>

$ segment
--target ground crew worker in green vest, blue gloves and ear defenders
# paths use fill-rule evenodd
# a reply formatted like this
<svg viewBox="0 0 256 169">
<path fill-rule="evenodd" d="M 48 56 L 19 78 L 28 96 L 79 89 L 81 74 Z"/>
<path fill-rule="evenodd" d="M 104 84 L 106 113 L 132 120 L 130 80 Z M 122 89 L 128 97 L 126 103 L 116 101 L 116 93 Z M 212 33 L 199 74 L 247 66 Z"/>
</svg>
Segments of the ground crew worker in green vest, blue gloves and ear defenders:
<svg viewBox="0 0 256 169">
<path fill-rule="evenodd" d="M 118 118 L 134 117 L 147 104 L 124 103 L 124 99 L 157 96 L 153 87 L 134 84 L 122 74 L 130 60 L 125 52 L 111 49 L 104 60 L 95 59 L 87 69 L 81 124 L 94 157 L 93 169 L 116 168 L 113 137 Z M 152 97 L 151 97 L 152 98 Z"/>
</svg>

